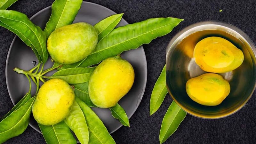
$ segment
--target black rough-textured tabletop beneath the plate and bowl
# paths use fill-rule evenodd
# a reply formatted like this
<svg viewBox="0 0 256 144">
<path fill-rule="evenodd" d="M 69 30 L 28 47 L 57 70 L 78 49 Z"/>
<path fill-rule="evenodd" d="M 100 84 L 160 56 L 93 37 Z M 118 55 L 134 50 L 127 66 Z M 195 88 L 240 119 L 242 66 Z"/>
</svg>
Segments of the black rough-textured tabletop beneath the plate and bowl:
<svg viewBox="0 0 256 144">
<path fill-rule="evenodd" d="M 163 37 L 145 44 L 148 62 L 148 82 L 139 108 L 130 119 L 130 128 L 121 127 L 112 134 L 118 144 L 159 143 L 159 131 L 164 114 L 172 99 L 167 96 L 163 105 L 149 116 L 150 94 L 165 63 L 165 47 L 178 31 L 198 21 L 219 20 L 243 30 L 256 43 L 255 0 L 90 0 L 106 6 L 117 13 L 124 12 L 129 23 L 153 17 L 177 17 L 185 19 L 179 26 Z M 23 12 L 31 17 L 51 5 L 53 0 L 19 0 L 9 10 Z M 219 12 L 219 10 L 223 12 Z M 0 28 L 0 117 L 12 107 L 5 83 L 5 62 L 14 34 Z M 206 120 L 190 115 L 165 143 L 256 143 L 256 93 L 246 106 L 237 113 L 222 119 Z M 20 136 L 6 143 L 45 143 L 43 136 L 28 126 Z"/>
</svg>

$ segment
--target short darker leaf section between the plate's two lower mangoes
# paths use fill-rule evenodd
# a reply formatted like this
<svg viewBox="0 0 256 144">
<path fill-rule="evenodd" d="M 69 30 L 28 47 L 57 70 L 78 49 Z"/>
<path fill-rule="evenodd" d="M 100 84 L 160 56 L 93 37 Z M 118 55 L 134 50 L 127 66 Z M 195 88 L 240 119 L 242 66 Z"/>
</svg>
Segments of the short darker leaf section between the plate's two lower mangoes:
<svg viewBox="0 0 256 144">
<path fill-rule="evenodd" d="M 75 95 L 79 99 L 83 100 L 87 106 L 89 107 L 97 107 L 92 103 L 92 100 L 89 97 L 89 92 L 88 92 L 88 83 L 81 83 L 81 84 L 74 84 L 75 86 Z"/>
</svg>

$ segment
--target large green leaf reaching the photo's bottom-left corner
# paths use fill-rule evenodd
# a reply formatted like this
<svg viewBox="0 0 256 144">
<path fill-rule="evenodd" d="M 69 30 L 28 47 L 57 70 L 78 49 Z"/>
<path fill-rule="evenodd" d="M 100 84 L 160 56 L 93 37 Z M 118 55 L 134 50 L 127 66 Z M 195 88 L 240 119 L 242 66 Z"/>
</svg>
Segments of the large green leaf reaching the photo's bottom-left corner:
<svg viewBox="0 0 256 144">
<path fill-rule="evenodd" d="M 0 122 L 0 143 L 18 136 L 26 130 L 34 100 L 35 97 L 30 98 Z"/>
</svg>

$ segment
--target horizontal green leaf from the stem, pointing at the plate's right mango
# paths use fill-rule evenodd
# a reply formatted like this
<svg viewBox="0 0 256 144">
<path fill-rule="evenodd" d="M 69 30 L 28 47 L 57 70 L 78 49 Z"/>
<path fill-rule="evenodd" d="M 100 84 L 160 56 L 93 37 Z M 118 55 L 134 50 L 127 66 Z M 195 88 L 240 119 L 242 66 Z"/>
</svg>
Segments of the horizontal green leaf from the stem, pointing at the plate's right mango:
<svg viewBox="0 0 256 144">
<path fill-rule="evenodd" d="M 68 84 L 79 84 L 89 82 L 93 70 L 92 68 L 67 68 L 57 71 L 52 76 L 44 76 L 45 78 L 60 78 L 65 80 Z"/>
</svg>

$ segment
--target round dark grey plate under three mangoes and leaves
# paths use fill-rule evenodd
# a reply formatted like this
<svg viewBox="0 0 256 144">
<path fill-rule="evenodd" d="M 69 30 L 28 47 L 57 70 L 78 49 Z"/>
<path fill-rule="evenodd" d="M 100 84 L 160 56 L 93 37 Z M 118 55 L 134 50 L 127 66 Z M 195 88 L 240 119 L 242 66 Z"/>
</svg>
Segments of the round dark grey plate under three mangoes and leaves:
<svg viewBox="0 0 256 144">
<path fill-rule="evenodd" d="M 46 7 L 37 12 L 30 19 L 33 23 L 44 29 L 47 21 L 50 18 L 51 11 L 51 6 Z M 87 22 L 94 25 L 100 20 L 113 14 L 116 13 L 104 6 L 90 2 L 83 2 L 78 14 L 76 15 L 74 23 Z M 124 26 L 127 24 L 128 23 L 122 19 L 118 26 Z M 121 56 L 123 59 L 128 60 L 132 64 L 135 71 L 135 80 L 132 89 L 118 102 L 124 108 L 127 116 L 130 118 L 138 108 L 145 91 L 147 82 L 147 61 L 142 46 L 138 49 L 123 52 Z M 13 68 L 18 67 L 24 70 L 29 70 L 34 67 L 34 65 L 31 63 L 32 61 L 37 61 L 38 63 L 34 52 L 25 43 L 23 43 L 19 37 L 15 36 L 7 55 L 5 68 L 7 89 L 13 104 L 16 104 L 28 92 L 29 89 L 28 79 L 26 76 L 17 74 L 13 71 Z M 52 65 L 53 63 L 49 59 L 44 68 L 50 68 Z M 48 74 L 50 75 L 53 73 L 54 71 Z M 35 84 L 32 84 L 32 94 L 35 93 L 35 90 L 36 86 Z M 109 109 L 92 109 L 100 117 L 110 133 L 115 132 L 122 126 L 117 119 L 112 117 Z M 41 133 L 32 115 L 29 125 L 37 132 Z"/>
</svg>

